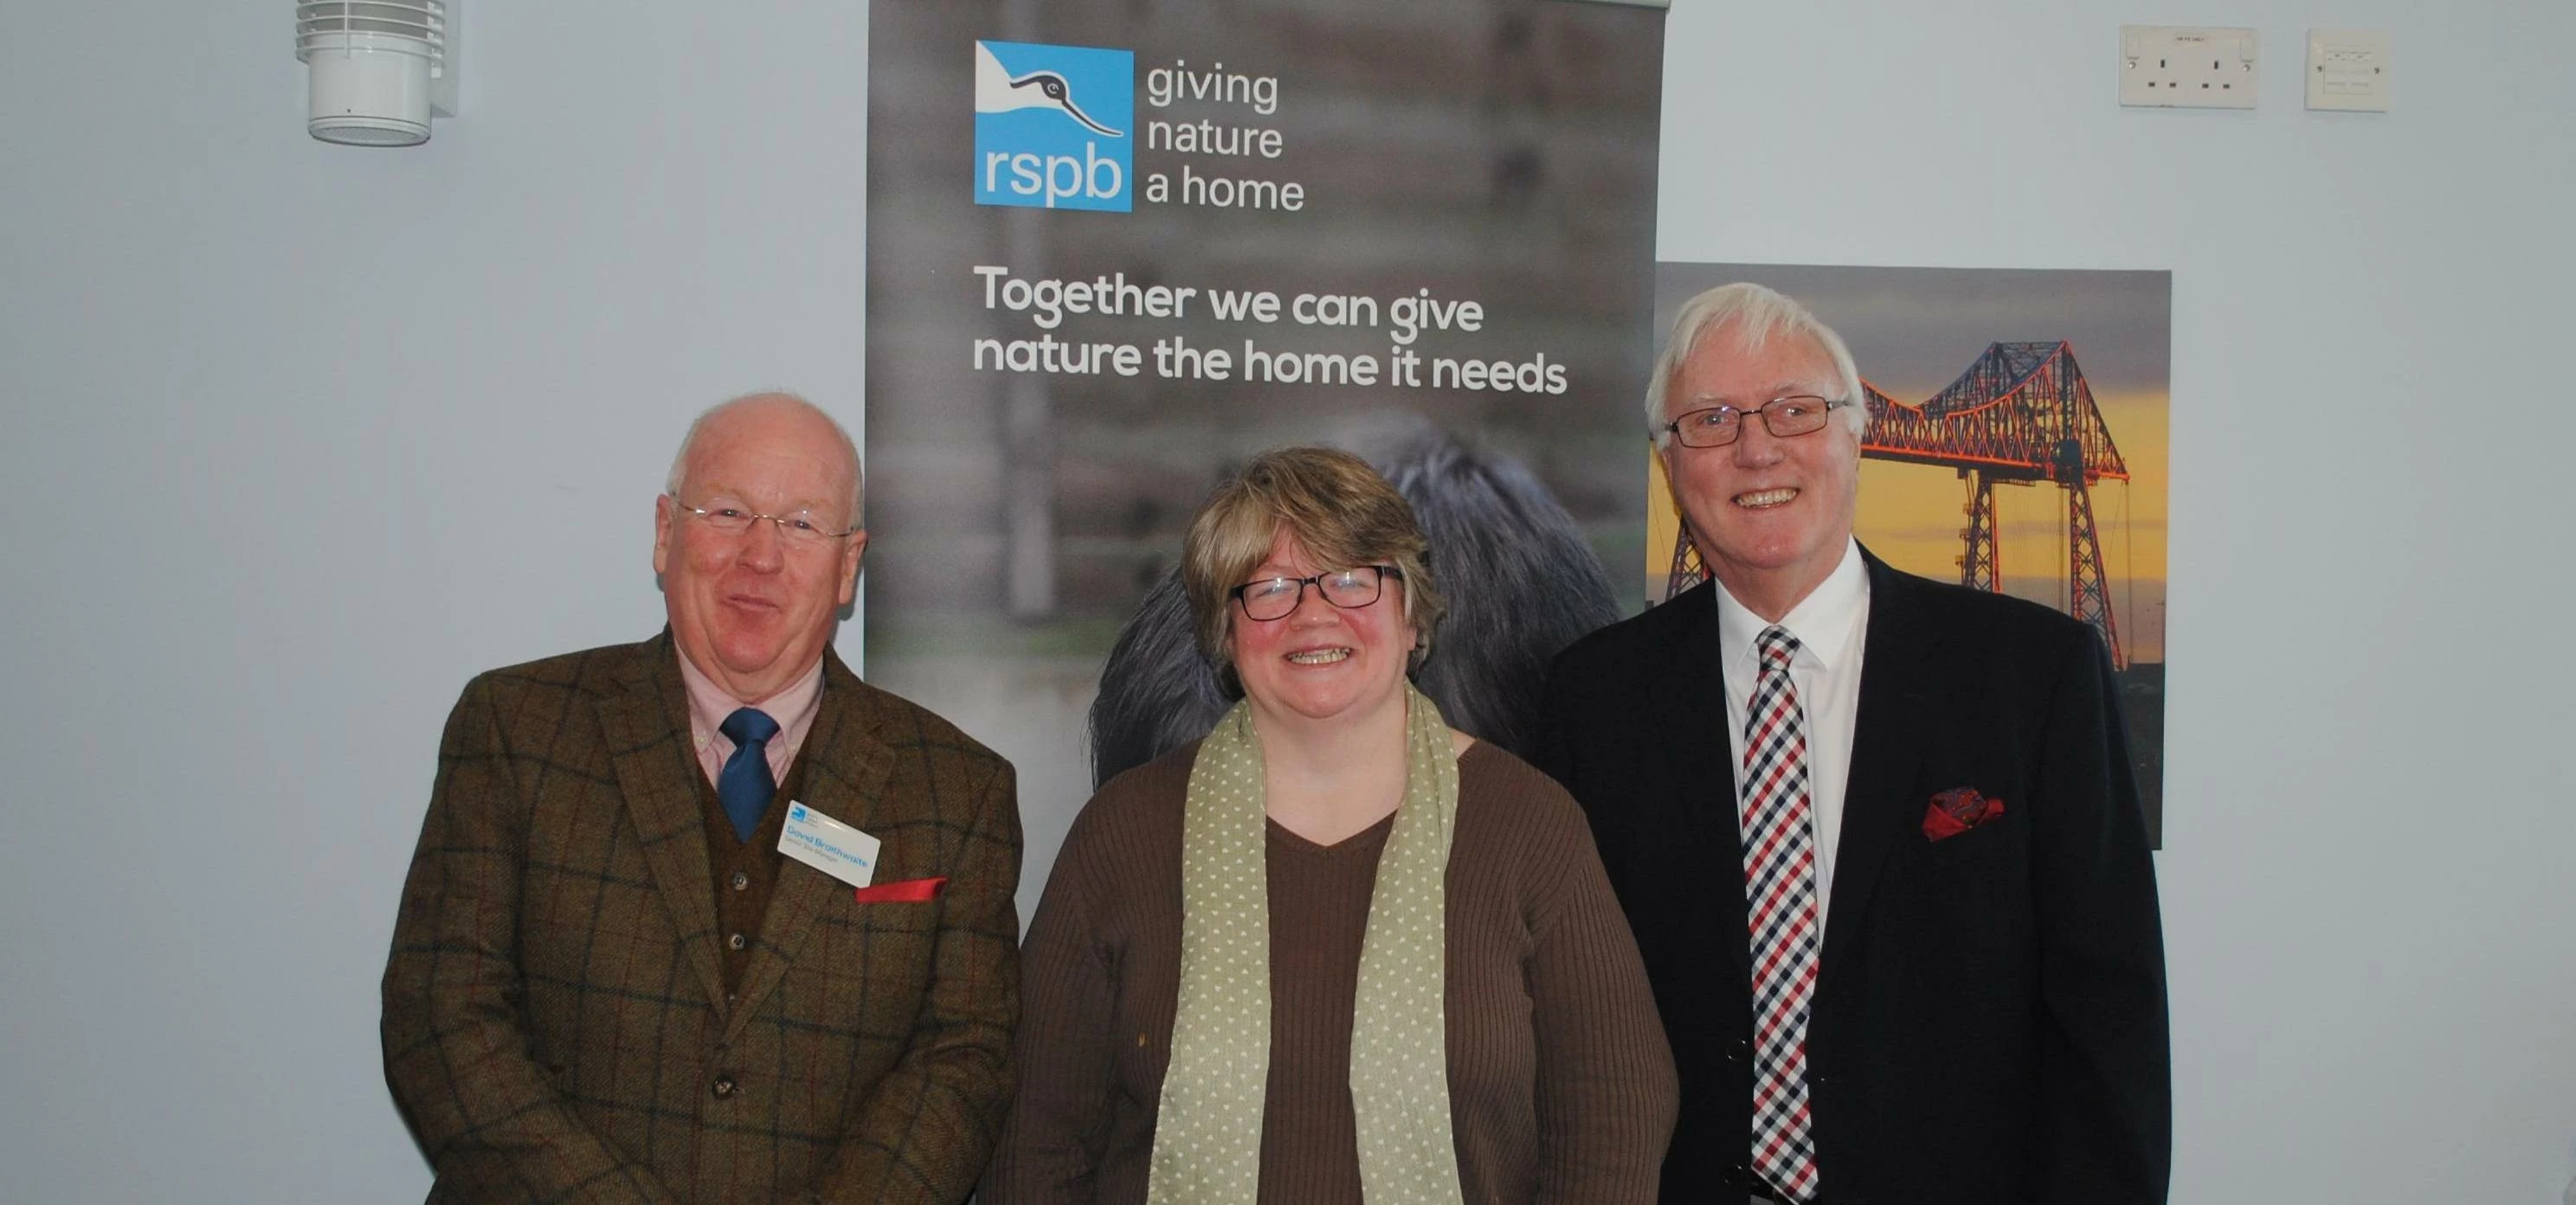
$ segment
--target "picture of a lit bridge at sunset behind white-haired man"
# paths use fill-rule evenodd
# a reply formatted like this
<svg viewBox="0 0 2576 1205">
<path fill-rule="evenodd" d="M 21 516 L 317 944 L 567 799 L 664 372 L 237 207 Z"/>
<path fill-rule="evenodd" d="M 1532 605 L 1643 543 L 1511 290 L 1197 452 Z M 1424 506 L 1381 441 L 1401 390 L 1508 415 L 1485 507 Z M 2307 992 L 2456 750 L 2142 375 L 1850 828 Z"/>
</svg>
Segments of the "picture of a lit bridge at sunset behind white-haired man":
<svg viewBox="0 0 2576 1205">
<path fill-rule="evenodd" d="M 2172 273 L 1662 263 L 1656 330 L 1728 281 L 1795 296 L 1852 345 L 1862 546 L 2102 633 L 2161 847 Z M 1649 456 L 1649 597 L 1700 579 L 1659 474 Z"/>
</svg>

